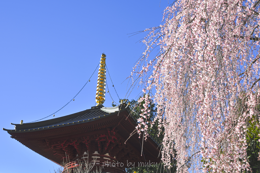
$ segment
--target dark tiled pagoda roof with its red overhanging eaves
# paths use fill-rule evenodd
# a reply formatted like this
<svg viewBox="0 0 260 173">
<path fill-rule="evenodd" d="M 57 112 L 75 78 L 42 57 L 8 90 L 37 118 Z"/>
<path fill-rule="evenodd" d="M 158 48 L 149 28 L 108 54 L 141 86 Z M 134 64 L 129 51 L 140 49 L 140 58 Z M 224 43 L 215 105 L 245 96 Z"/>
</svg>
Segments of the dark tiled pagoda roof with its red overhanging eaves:
<svg viewBox="0 0 260 173">
<path fill-rule="evenodd" d="M 58 141 L 74 138 L 83 140 L 83 136 L 98 136 L 107 134 L 109 130 L 116 129 L 115 135 L 118 136 L 120 145 L 131 148 L 131 152 L 135 153 L 135 158 L 139 158 L 142 150 L 139 135 L 135 133 L 128 139 L 137 125 L 136 119 L 130 113 L 126 103 L 117 107 L 98 106 L 45 121 L 13 124 L 15 130 L 4 128 L 3 130 L 7 131 L 11 138 L 16 139 L 31 150 L 57 164 L 61 164 L 64 156 L 58 155 L 57 151 L 52 150 L 50 148 L 51 143 L 57 145 Z M 99 137 L 102 137 L 102 135 Z M 142 151 L 145 155 L 145 158 L 140 158 L 142 161 L 151 159 L 160 162 L 159 144 L 152 137 L 148 137 L 144 141 Z"/>
</svg>

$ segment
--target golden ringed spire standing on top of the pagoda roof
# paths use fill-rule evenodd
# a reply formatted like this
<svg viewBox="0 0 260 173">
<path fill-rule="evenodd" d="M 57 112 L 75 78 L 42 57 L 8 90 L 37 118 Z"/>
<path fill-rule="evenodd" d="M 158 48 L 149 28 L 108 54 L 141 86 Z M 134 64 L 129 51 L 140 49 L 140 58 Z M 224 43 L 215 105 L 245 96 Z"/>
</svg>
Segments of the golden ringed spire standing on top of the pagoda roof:
<svg viewBox="0 0 260 173">
<path fill-rule="evenodd" d="M 102 105 L 105 102 L 106 94 L 106 54 L 101 55 L 100 68 L 98 71 L 97 78 L 97 92 L 96 92 L 96 102 L 97 106 Z"/>
</svg>

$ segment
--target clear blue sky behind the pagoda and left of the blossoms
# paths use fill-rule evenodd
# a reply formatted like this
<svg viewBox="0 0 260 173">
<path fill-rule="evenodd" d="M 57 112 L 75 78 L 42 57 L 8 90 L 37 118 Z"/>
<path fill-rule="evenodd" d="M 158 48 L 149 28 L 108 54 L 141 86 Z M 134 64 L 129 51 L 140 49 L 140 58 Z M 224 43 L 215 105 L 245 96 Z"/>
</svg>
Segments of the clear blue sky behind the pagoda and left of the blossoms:
<svg viewBox="0 0 260 173">
<path fill-rule="evenodd" d="M 138 41 L 144 37 L 127 34 L 160 25 L 168 5 L 167 0 L 1 1 L 1 128 L 14 129 L 10 122 L 34 121 L 59 110 L 87 82 L 103 52 L 117 92 L 125 97 L 127 82 L 122 82 L 142 53 Z M 97 71 L 55 118 L 94 106 L 96 81 Z M 139 92 L 136 88 L 129 99 Z M 107 94 L 104 106 L 111 103 Z M 0 135 L 0 173 L 47 173 L 57 167 L 6 131 Z"/>
</svg>

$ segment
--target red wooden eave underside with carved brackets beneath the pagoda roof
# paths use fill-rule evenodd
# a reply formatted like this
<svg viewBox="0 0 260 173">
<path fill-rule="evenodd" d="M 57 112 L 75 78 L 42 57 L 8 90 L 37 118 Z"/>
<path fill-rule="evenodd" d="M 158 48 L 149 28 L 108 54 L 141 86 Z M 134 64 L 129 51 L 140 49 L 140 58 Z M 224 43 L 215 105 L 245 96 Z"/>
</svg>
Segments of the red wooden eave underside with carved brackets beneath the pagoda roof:
<svg viewBox="0 0 260 173">
<path fill-rule="evenodd" d="M 151 138 L 144 142 L 144 156 L 141 156 L 141 142 L 138 134 L 128 139 L 135 126 L 136 122 L 133 118 L 128 117 L 128 112 L 122 110 L 119 114 L 117 112 L 92 122 L 10 134 L 12 138 L 26 147 L 57 164 L 61 164 L 64 157 L 73 159 L 86 151 L 91 154 L 95 151 L 100 154 L 109 153 L 110 156 L 115 156 L 119 162 L 123 163 L 127 160 L 128 162 L 149 162 L 150 160 L 159 163 L 158 144 Z"/>
</svg>

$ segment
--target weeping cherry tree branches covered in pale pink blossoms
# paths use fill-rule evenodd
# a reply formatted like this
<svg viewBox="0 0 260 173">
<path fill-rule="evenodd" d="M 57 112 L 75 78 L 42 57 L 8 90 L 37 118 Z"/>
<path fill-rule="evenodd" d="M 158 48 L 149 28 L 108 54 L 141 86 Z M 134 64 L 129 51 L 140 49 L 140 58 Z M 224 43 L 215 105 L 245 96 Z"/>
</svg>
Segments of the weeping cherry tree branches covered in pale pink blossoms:
<svg viewBox="0 0 260 173">
<path fill-rule="evenodd" d="M 147 137 L 153 99 L 162 161 L 176 160 L 178 172 L 250 172 L 246 120 L 259 104 L 259 3 L 178 0 L 159 27 L 145 30 L 146 49 L 131 73 L 145 94 L 136 130 Z"/>
</svg>

